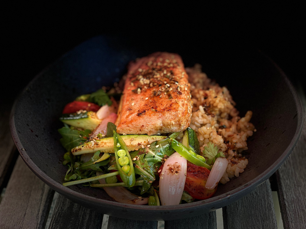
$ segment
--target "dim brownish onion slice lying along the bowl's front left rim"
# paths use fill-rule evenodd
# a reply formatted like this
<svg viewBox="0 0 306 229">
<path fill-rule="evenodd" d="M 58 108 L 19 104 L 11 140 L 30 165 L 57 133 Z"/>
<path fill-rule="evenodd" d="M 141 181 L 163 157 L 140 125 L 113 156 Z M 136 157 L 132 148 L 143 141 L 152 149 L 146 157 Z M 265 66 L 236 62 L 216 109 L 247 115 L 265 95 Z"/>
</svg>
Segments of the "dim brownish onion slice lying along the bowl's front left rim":
<svg viewBox="0 0 306 229">
<path fill-rule="evenodd" d="M 97 176 L 103 173 L 97 172 Z M 99 180 L 100 184 L 106 184 L 105 179 Z M 148 198 L 141 197 L 130 193 L 125 187 L 103 187 L 104 191 L 115 201 L 124 204 L 144 205 L 148 203 Z"/>
</svg>

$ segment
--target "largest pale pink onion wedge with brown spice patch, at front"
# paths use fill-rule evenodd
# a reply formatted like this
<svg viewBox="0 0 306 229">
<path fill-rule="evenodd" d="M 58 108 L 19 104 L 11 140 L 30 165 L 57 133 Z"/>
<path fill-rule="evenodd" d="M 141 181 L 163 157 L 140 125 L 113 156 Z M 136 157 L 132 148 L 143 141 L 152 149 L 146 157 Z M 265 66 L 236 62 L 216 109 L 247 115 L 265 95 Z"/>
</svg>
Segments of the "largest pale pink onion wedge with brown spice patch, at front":
<svg viewBox="0 0 306 229">
<path fill-rule="evenodd" d="M 162 205 L 179 204 L 185 187 L 187 160 L 174 152 L 164 163 L 159 177 L 159 196 Z"/>
</svg>

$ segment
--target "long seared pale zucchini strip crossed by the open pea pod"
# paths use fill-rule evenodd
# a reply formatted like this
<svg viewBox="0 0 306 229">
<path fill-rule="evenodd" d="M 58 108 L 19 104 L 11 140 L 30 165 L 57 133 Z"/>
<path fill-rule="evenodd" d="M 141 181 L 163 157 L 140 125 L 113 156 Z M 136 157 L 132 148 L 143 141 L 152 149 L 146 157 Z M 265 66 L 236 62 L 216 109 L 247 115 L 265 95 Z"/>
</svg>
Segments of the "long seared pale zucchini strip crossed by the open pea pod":
<svg viewBox="0 0 306 229">
<path fill-rule="evenodd" d="M 167 138 L 167 136 L 161 135 L 121 135 L 122 140 L 125 142 L 126 147 L 128 147 L 129 151 L 133 151 L 135 149 L 140 149 L 141 145 L 144 147 L 151 144 L 152 142 L 159 141 Z M 149 142 L 148 142 L 149 140 Z M 75 147 L 71 150 L 73 155 L 94 153 L 95 151 L 100 150 L 105 153 L 114 153 L 114 138 L 103 138 L 100 140 L 96 140 L 92 145 L 92 142 L 87 142 L 83 145 Z"/>
</svg>

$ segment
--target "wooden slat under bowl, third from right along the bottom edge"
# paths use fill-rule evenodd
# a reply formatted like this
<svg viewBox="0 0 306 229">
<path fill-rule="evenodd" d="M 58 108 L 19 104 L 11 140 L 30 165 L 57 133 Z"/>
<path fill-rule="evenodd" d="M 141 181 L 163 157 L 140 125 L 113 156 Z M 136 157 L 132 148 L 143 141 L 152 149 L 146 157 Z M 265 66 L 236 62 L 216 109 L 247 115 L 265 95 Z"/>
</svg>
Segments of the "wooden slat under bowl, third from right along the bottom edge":
<svg viewBox="0 0 306 229">
<path fill-rule="evenodd" d="M 216 211 L 181 220 L 165 221 L 165 229 L 217 229 Z"/>
</svg>

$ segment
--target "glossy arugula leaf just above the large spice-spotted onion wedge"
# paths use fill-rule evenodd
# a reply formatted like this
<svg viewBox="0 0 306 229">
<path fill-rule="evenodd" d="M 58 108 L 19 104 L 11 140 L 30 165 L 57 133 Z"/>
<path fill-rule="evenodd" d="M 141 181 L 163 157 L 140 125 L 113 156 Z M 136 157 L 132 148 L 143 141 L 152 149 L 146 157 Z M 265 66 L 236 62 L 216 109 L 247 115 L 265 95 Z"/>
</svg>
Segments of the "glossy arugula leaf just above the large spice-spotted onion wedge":
<svg viewBox="0 0 306 229">
<path fill-rule="evenodd" d="M 145 154 L 144 159 L 147 161 L 151 170 L 156 173 L 158 168 L 162 165 L 163 159 L 173 154 L 174 149 L 170 146 L 167 138 L 153 142 L 150 145 L 149 151 Z M 159 147 L 156 148 L 156 145 L 159 145 Z"/>
</svg>

